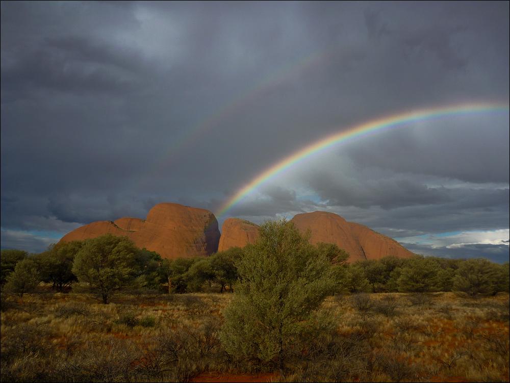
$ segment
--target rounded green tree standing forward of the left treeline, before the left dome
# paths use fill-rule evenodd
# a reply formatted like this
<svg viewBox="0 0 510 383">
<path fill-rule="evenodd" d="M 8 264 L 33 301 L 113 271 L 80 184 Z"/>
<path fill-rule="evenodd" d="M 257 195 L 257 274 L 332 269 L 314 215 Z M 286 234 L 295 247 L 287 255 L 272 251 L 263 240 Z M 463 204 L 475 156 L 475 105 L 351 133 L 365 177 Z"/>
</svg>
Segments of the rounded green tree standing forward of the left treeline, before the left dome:
<svg viewBox="0 0 510 383">
<path fill-rule="evenodd" d="M 135 276 L 138 250 L 127 237 L 106 234 L 86 239 L 74 258 L 72 272 L 107 304 L 112 293 L 129 285 Z"/>
</svg>

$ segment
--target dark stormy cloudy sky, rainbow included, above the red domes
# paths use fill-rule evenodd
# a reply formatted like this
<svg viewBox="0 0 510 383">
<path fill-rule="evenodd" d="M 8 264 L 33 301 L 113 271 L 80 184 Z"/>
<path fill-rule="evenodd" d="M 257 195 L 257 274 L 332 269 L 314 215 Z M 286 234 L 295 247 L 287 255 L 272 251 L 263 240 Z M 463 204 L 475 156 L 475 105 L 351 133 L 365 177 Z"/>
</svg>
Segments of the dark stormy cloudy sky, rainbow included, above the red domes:
<svg viewBox="0 0 510 383">
<path fill-rule="evenodd" d="M 174 202 L 220 230 L 327 211 L 417 254 L 508 262 L 509 14 L 2 1 L 1 248 Z"/>
</svg>

